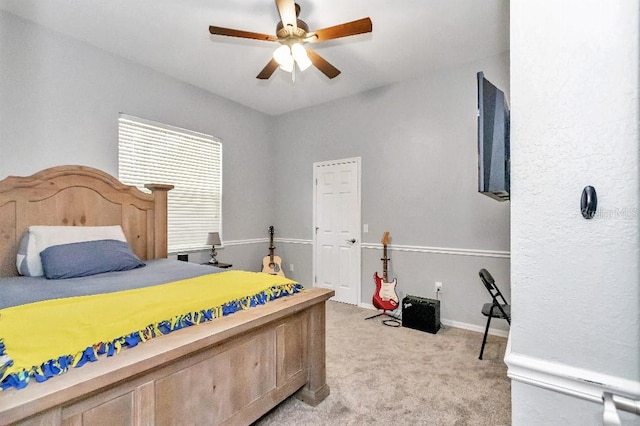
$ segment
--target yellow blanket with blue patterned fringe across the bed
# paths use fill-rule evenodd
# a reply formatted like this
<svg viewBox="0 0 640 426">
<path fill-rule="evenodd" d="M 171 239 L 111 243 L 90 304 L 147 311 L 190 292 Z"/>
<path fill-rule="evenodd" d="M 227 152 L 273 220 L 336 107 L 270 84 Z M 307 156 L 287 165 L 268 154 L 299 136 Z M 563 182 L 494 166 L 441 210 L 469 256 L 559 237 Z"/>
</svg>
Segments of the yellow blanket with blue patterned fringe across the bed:
<svg viewBox="0 0 640 426">
<path fill-rule="evenodd" d="M 5 368 L 0 369 L 0 385 L 5 389 L 24 387 L 29 376 L 43 381 L 66 371 L 66 364 L 81 365 L 95 360 L 96 354 L 111 355 L 122 345 L 135 346 L 153 336 L 247 309 L 300 288 L 276 275 L 227 271 L 3 309 L 0 367 L 4 361 Z"/>
</svg>

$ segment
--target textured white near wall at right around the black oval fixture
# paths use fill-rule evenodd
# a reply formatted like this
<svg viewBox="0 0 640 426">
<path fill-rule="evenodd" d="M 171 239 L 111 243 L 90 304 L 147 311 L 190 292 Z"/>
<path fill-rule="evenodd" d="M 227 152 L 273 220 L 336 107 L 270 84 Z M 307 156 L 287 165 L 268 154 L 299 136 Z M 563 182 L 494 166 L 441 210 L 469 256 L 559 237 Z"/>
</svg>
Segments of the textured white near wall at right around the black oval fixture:
<svg viewBox="0 0 640 426">
<path fill-rule="evenodd" d="M 511 2 L 512 351 L 632 381 L 639 13 L 638 0 Z M 598 193 L 592 220 L 580 214 L 586 185 Z M 514 420 L 569 410 L 536 395 L 514 387 Z"/>
</svg>

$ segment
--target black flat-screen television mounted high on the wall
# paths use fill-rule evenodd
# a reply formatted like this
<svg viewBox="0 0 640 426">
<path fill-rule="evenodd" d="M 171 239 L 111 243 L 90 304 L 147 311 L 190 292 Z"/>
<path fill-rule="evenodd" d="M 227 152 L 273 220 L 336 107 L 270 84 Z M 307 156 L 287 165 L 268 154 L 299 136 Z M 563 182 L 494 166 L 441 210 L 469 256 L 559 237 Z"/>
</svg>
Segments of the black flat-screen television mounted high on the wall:
<svg viewBox="0 0 640 426">
<path fill-rule="evenodd" d="M 506 201 L 510 192 L 509 105 L 504 92 L 478 73 L 478 192 Z"/>
</svg>

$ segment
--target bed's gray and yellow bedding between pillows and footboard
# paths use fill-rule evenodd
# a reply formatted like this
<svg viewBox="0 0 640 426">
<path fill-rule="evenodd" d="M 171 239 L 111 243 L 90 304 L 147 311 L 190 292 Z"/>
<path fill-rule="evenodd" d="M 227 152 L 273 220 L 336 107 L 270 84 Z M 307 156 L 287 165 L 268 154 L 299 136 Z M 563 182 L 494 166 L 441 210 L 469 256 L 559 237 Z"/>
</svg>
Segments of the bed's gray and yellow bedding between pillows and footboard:
<svg viewBox="0 0 640 426">
<path fill-rule="evenodd" d="M 0 389 L 302 289 L 284 277 L 167 259 L 90 277 L 0 279 Z"/>
</svg>

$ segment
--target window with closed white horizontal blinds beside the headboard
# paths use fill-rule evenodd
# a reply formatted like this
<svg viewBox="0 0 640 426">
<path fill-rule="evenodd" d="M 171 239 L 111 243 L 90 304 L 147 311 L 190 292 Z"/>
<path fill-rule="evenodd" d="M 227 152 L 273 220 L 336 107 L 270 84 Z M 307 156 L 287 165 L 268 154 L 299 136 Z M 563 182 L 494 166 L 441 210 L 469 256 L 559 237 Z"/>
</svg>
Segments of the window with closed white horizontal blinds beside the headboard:
<svg viewBox="0 0 640 426">
<path fill-rule="evenodd" d="M 119 179 L 143 191 L 166 183 L 169 252 L 210 248 L 222 228 L 222 144 L 213 136 L 120 114 Z"/>
</svg>

